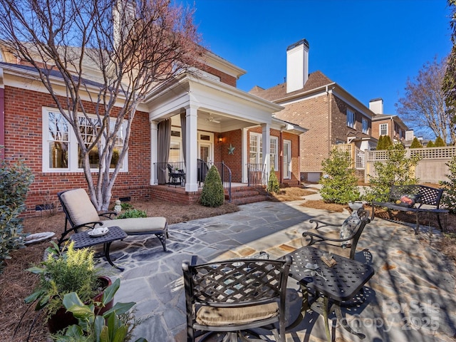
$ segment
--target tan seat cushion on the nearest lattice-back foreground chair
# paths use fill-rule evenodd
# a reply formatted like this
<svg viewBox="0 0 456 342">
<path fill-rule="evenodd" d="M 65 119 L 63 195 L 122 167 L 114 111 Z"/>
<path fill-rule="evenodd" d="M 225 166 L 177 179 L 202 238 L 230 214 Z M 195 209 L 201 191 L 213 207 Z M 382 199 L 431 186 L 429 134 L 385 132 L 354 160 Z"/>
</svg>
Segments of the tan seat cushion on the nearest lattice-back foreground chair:
<svg viewBox="0 0 456 342">
<path fill-rule="evenodd" d="M 235 308 L 202 306 L 197 311 L 196 321 L 204 326 L 227 326 L 250 323 L 278 315 L 279 305 L 275 302 L 253 306 L 237 306 Z"/>
</svg>

